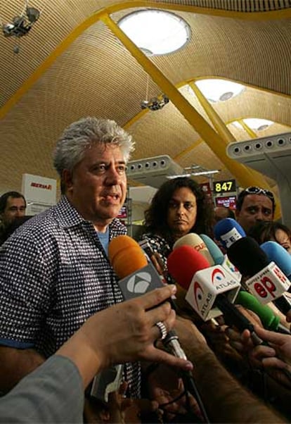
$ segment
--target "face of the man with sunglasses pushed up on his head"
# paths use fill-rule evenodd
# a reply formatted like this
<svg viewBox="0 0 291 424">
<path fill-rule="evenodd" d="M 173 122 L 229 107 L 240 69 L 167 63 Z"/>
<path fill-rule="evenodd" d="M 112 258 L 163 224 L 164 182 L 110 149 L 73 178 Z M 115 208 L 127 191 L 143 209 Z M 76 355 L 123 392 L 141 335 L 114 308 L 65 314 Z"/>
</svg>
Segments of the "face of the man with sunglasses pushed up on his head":
<svg viewBox="0 0 291 424">
<path fill-rule="evenodd" d="M 271 221 L 274 218 L 273 203 L 264 194 L 247 194 L 240 211 L 236 211 L 236 220 L 245 232 L 258 221 Z"/>
</svg>

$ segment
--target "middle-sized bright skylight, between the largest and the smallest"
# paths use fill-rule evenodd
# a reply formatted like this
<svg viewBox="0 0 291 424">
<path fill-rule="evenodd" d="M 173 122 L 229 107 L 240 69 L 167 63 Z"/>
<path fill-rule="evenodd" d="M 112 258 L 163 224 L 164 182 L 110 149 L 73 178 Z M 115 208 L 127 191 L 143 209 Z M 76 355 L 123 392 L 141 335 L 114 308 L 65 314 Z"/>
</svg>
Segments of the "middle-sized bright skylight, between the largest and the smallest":
<svg viewBox="0 0 291 424">
<path fill-rule="evenodd" d="M 238 96 L 245 88 L 237 82 L 218 80 L 217 78 L 198 80 L 195 84 L 207 100 L 212 101 L 212 103 L 232 99 L 234 96 Z"/>
</svg>

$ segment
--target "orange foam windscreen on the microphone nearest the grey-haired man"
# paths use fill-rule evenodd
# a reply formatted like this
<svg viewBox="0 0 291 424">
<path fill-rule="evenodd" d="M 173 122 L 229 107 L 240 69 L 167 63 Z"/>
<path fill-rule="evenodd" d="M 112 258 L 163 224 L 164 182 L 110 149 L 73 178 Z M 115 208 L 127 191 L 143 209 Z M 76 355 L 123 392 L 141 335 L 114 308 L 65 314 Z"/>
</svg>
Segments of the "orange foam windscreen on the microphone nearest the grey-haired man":
<svg viewBox="0 0 291 424">
<path fill-rule="evenodd" d="M 119 235 L 111 240 L 108 256 L 112 268 L 121 279 L 148 265 L 141 247 L 128 235 Z"/>
</svg>

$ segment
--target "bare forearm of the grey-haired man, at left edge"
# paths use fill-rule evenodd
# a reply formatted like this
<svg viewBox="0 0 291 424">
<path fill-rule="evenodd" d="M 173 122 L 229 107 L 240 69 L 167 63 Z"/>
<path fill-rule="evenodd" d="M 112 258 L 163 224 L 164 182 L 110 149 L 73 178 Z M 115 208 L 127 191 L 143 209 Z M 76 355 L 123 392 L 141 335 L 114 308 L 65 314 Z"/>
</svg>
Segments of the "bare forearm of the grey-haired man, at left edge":
<svg viewBox="0 0 291 424">
<path fill-rule="evenodd" d="M 0 347 L 0 391 L 8 392 L 46 359 L 34 349 Z"/>
</svg>

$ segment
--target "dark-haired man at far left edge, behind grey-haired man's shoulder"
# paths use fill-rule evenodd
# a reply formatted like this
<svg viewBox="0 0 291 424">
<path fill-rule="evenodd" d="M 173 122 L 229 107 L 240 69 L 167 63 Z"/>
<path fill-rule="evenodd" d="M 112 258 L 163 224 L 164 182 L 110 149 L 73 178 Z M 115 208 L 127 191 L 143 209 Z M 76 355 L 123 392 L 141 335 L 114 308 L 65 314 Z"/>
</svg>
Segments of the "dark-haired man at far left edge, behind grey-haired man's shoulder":
<svg viewBox="0 0 291 424">
<path fill-rule="evenodd" d="M 0 197 L 0 244 L 4 243 L 7 236 L 7 227 L 13 220 L 20 216 L 25 216 L 26 200 L 21 193 L 6 192 Z"/>
</svg>

